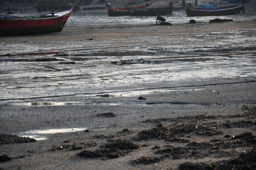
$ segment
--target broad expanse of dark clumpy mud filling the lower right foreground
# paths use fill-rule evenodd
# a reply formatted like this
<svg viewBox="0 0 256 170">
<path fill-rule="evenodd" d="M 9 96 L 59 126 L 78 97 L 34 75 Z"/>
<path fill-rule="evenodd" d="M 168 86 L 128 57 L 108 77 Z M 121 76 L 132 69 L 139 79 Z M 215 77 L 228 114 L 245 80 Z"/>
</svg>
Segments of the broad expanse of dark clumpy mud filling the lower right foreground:
<svg viewBox="0 0 256 170">
<path fill-rule="evenodd" d="M 145 130 L 123 129 L 115 134 L 98 135 L 104 145 L 85 149 L 78 156 L 115 159 L 146 149 L 146 155 L 133 157 L 129 163 L 135 166 L 181 162 L 171 169 L 185 170 L 255 169 L 255 120 L 255 106 L 243 106 L 240 113 L 230 115 L 146 120 L 143 123 L 157 124 Z M 118 140 L 113 140 L 117 137 Z"/>
</svg>

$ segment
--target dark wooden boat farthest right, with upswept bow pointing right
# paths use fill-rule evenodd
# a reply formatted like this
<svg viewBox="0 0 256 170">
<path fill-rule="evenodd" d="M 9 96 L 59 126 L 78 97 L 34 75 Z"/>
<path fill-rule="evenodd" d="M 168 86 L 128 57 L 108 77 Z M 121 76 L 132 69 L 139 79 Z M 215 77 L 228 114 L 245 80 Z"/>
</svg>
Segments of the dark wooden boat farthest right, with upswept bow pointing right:
<svg viewBox="0 0 256 170">
<path fill-rule="evenodd" d="M 186 7 L 185 10 L 187 16 L 229 16 L 240 13 L 243 8 L 245 8 L 245 4 L 232 8 L 220 8 L 216 10 L 202 10 L 189 7 Z"/>
</svg>

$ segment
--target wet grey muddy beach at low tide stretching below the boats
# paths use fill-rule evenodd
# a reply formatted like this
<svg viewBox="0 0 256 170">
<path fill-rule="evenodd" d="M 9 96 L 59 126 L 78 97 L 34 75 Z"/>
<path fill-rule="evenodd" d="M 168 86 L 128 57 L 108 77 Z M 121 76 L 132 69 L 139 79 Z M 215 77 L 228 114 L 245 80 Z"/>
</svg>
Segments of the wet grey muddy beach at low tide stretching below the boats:
<svg viewBox="0 0 256 170">
<path fill-rule="evenodd" d="M 1 169 L 255 167 L 253 13 L 173 26 L 87 15 L 0 38 Z"/>
</svg>

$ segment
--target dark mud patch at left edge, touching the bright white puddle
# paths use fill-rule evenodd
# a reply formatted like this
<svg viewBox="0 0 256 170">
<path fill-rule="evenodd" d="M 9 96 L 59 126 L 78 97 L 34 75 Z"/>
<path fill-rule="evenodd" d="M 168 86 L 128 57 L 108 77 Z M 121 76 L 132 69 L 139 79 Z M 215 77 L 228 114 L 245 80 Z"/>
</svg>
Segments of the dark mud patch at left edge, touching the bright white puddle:
<svg viewBox="0 0 256 170">
<path fill-rule="evenodd" d="M 0 135 L 0 145 L 26 142 L 36 142 L 36 140 L 30 137 L 18 137 L 17 135 Z"/>
</svg>

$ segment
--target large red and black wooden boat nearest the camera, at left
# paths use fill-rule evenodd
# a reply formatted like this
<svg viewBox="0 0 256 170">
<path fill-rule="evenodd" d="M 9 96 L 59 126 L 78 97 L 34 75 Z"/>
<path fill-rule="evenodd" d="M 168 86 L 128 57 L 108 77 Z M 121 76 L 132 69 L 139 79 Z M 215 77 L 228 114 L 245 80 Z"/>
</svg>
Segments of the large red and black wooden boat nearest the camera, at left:
<svg viewBox="0 0 256 170">
<path fill-rule="evenodd" d="M 48 13 L 41 16 L 0 16 L 0 35 L 30 35 L 55 33 L 63 30 L 73 8 L 69 11 Z"/>
</svg>

